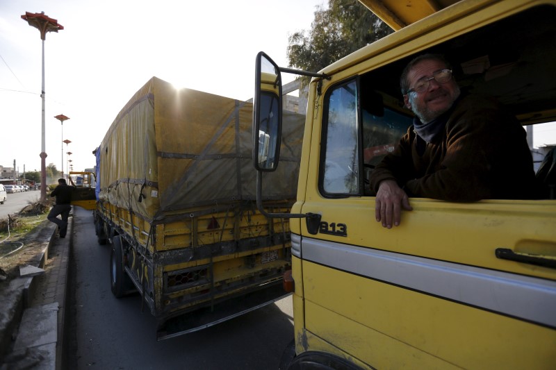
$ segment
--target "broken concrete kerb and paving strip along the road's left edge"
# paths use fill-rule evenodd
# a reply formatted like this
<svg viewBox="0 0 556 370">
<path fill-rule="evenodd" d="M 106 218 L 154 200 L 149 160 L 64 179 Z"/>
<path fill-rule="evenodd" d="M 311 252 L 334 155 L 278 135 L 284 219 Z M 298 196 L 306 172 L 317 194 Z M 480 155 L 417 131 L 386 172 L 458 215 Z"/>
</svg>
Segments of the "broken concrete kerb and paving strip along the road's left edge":
<svg viewBox="0 0 556 370">
<path fill-rule="evenodd" d="M 29 250 L 35 253 L 20 277 L 0 296 L 0 370 L 63 369 L 67 264 L 73 217 L 65 238 L 45 221 Z"/>
</svg>

